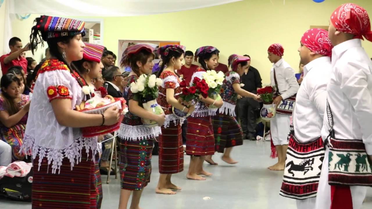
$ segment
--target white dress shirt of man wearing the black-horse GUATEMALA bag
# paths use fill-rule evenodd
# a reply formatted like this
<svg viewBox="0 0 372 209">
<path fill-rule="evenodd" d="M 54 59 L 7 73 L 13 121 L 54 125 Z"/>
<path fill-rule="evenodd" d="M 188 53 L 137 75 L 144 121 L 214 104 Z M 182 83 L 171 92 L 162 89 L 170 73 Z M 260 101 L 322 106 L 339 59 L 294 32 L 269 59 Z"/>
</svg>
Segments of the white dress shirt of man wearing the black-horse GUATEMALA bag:
<svg viewBox="0 0 372 209">
<path fill-rule="evenodd" d="M 304 67 L 304 80 L 297 92 L 294 110 L 295 136 L 301 143 L 320 137 L 331 70 L 330 57 L 317 58 Z"/>
</svg>

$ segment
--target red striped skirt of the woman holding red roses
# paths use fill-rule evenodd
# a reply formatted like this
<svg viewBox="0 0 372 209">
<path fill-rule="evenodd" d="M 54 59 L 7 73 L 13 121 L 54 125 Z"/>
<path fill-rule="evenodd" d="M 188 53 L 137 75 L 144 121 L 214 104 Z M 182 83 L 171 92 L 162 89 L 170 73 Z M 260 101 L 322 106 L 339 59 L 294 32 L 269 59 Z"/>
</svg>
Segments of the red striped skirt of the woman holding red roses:
<svg viewBox="0 0 372 209">
<path fill-rule="evenodd" d="M 170 121 L 161 127 L 159 135 L 159 173 L 173 174 L 183 171 L 183 142 L 181 125 Z"/>
</svg>

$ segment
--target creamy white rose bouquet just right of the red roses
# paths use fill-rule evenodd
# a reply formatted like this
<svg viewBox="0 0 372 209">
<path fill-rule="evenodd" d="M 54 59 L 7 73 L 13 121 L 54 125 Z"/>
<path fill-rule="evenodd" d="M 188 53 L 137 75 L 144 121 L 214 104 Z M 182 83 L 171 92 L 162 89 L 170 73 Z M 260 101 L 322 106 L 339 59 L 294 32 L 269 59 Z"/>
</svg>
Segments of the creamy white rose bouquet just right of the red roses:
<svg viewBox="0 0 372 209">
<path fill-rule="evenodd" d="M 208 96 L 215 100 L 220 100 L 221 96 L 219 94 L 223 92 L 222 84 L 225 80 L 225 74 L 222 71 L 217 73 L 215 70 L 208 70 L 203 74 L 203 78 L 209 87 Z M 217 108 L 214 105 L 206 106 L 211 109 Z"/>
</svg>

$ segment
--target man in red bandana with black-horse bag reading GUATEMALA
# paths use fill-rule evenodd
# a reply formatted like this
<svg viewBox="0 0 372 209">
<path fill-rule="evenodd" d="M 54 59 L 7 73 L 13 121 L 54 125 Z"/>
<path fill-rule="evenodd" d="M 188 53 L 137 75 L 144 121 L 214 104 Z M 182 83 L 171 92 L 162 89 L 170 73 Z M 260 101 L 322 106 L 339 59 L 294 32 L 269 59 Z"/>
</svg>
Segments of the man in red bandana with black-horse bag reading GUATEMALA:
<svg viewBox="0 0 372 209">
<path fill-rule="evenodd" d="M 304 64 L 304 79 L 296 95 L 293 131 L 288 150 L 282 196 L 296 200 L 298 209 L 314 209 L 320 171 L 324 158 L 321 129 L 327 104 L 327 83 L 331 74 L 332 45 L 327 30 L 314 28 L 301 38 L 299 55 Z M 295 139 L 297 141 L 295 141 Z M 307 147 L 306 151 L 301 147 Z M 307 172 L 298 165 L 308 160 Z M 291 164 L 292 162 L 292 164 Z M 297 166 L 297 167 L 296 167 Z M 306 167 L 304 167 L 304 171 Z M 289 172 L 291 171 L 291 172 Z M 293 176 L 291 175 L 293 174 Z M 301 189 L 307 187 L 308 189 Z"/>
</svg>

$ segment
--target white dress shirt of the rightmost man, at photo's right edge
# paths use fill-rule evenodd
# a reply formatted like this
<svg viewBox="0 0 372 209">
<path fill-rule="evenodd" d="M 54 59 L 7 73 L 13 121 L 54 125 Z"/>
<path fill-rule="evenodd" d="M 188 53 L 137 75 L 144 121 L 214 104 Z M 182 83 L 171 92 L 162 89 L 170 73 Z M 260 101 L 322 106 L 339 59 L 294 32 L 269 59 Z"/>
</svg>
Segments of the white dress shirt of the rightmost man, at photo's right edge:
<svg viewBox="0 0 372 209">
<path fill-rule="evenodd" d="M 338 139 L 363 139 L 372 155 L 372 61 L 360 39 L 345 41 L 332 50 L 332 72 L 327 99 Z M 327 113 L 322 136 L 329 134 Z M 324 138 L 325 139 L 325 138 Z"/>
</svg>

